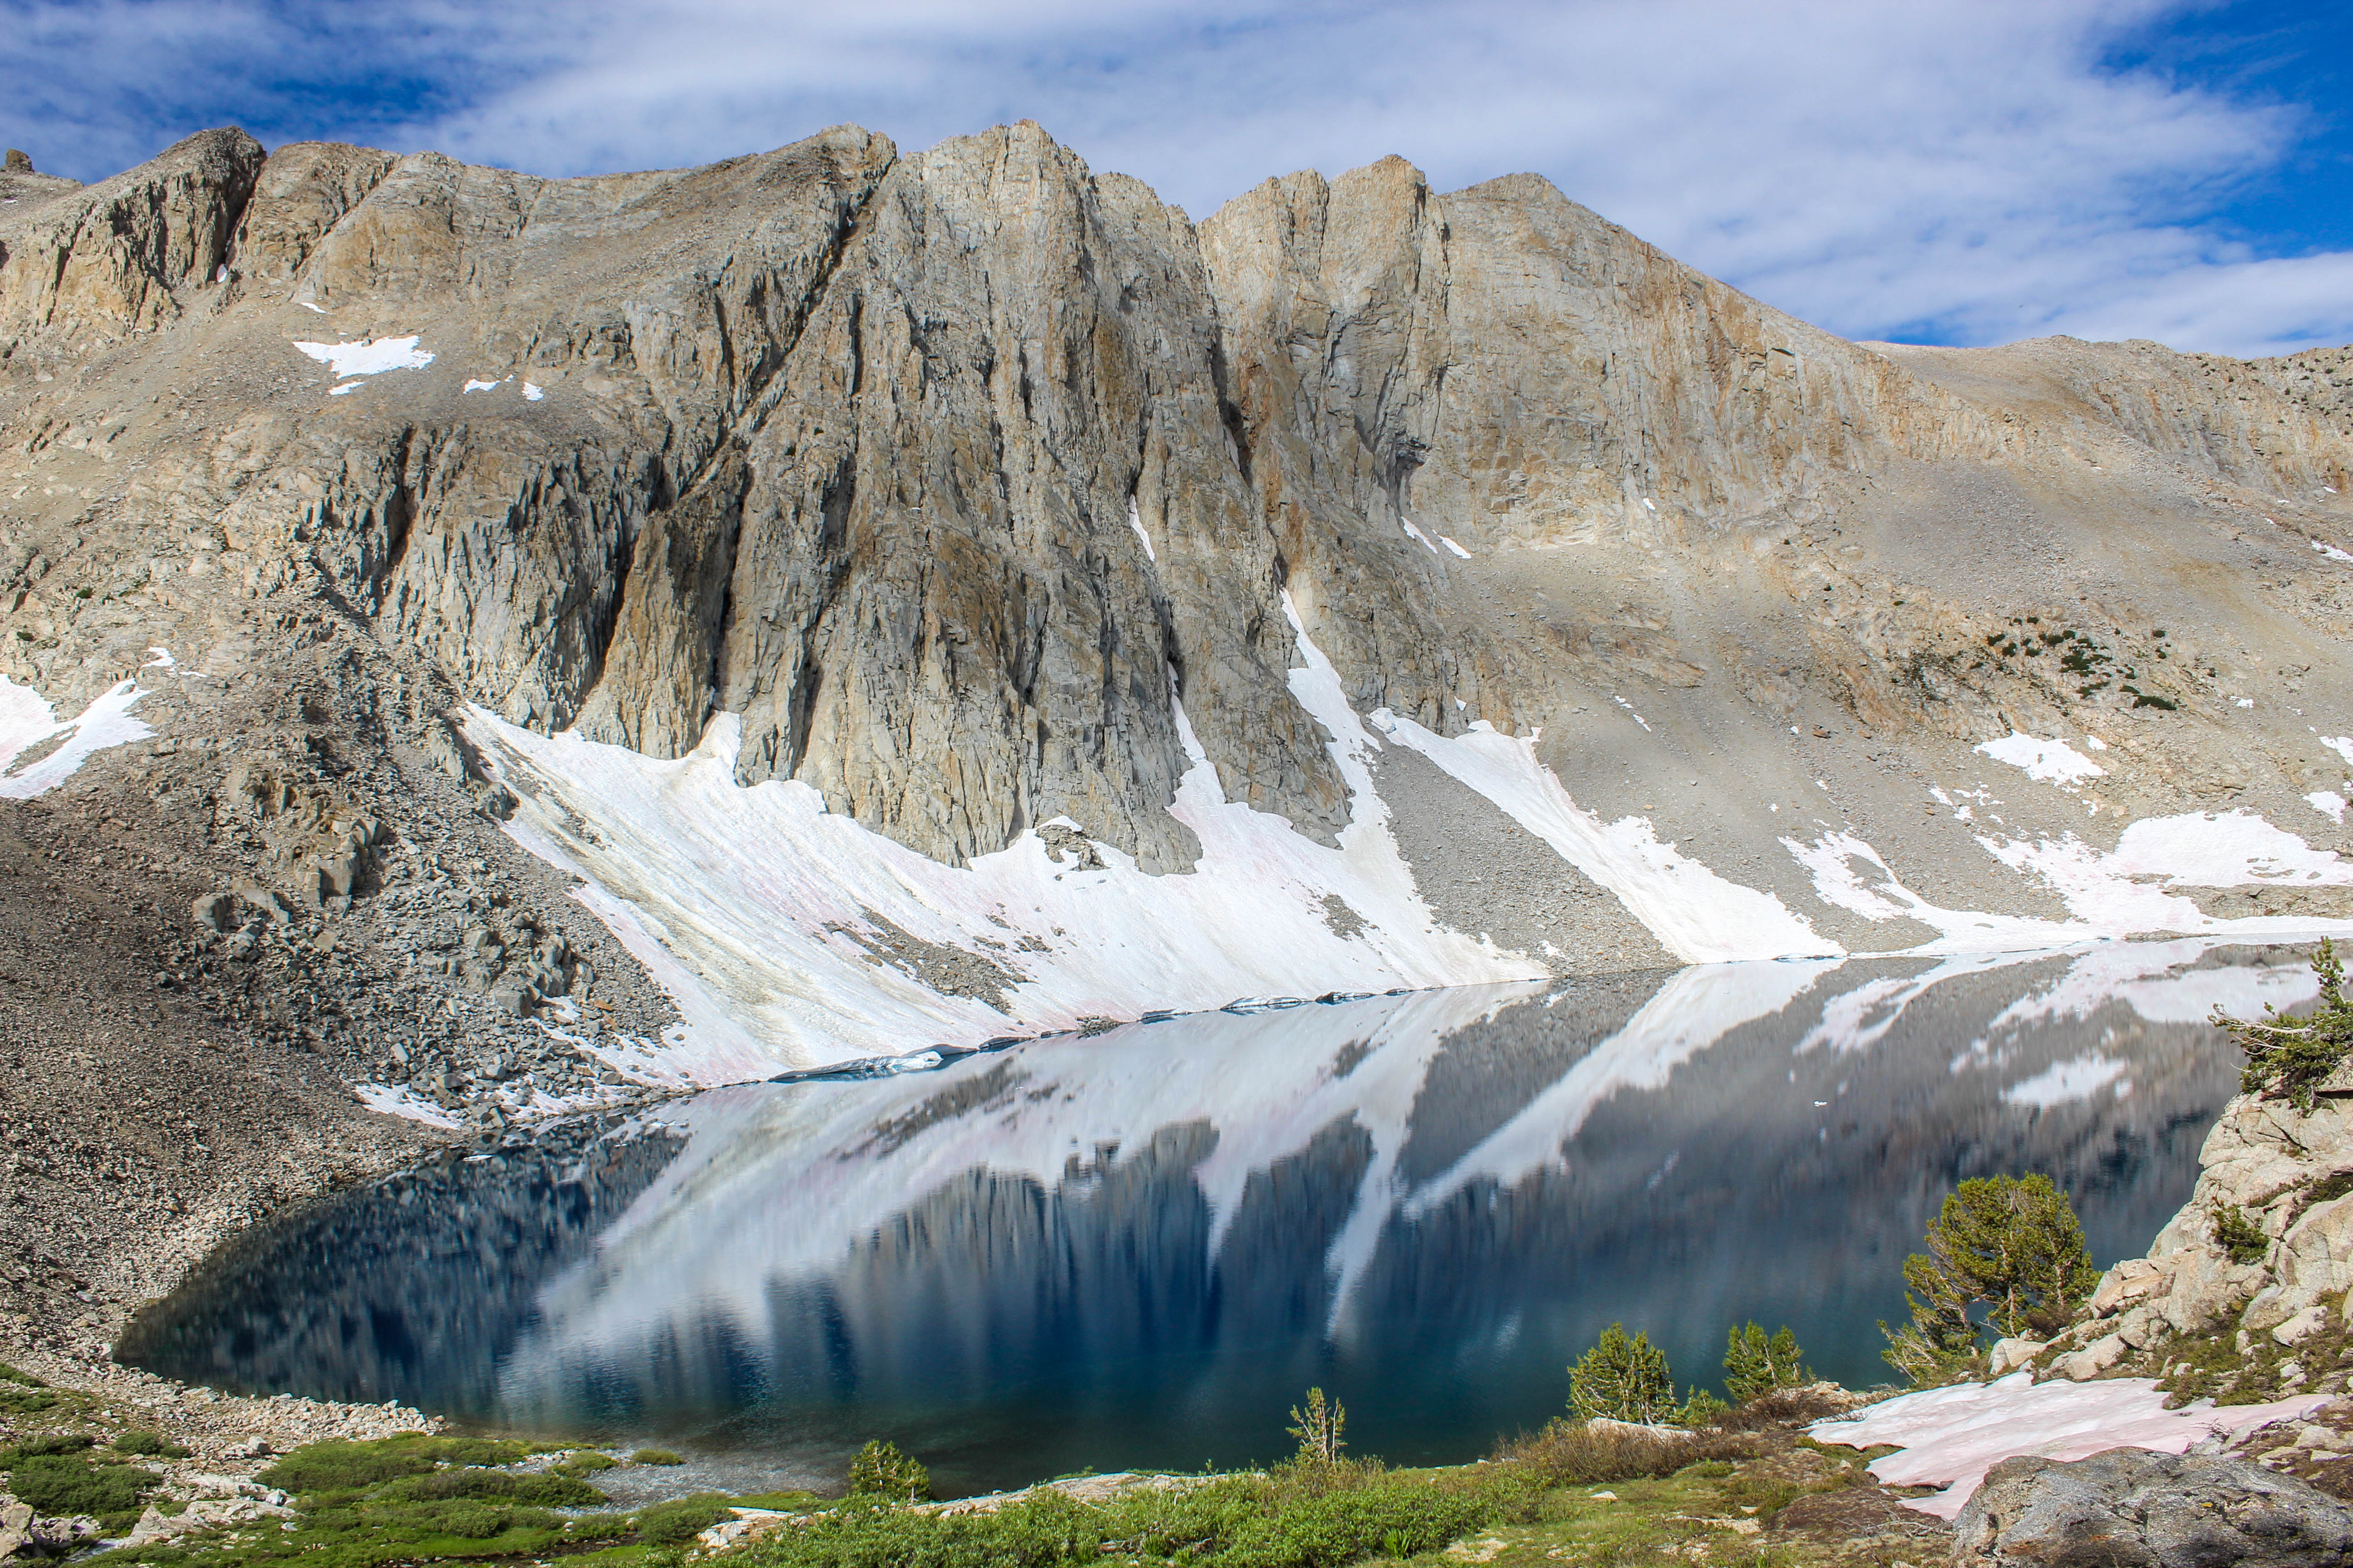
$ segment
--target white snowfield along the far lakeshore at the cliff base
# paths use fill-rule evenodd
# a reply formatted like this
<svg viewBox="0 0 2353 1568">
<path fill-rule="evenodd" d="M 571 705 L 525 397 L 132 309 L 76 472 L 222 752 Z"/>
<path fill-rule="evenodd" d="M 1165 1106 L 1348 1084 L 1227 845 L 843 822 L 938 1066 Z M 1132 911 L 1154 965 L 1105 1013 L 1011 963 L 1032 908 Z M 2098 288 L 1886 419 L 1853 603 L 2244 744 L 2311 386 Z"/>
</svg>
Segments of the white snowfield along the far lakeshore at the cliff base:
<svg viewBox="0 0 2353 1568">
<path fill-rule="evenodd" d="M 1687 964 L 1845 954 L 1774 893 L 1664 844 L 1647 818 L 1605 823 L 1579 806 L 1537 759 L 1534 738 L 1485 722 L 1447 738 L 1388 710 L 1360 717 L 1287 595 L 1282 607 L 1297 635 L 1292 696 L 1329 736 L 1351 823 L 1329 849 L 1280 816 L 1228 802 L 1179 703 L 1191 769 L 1169 811 L 1202 844 L 1184 875 L 1151 877 L 1113 846 L 1096 846 L 1104 867 L 1087 870 L 1059 860 L 1035 832 L 972 865 L 941 865 L 828 813 L 802 783 L 736 785 L 734 715 L 718 715 L 678 762 L 576 733 L 539 736 L 482 708 L 466 731 L 520 797 L 508 832 L 579 875 L 579 898 L 678 1001 L 685 1025 L 656 1060 L 626 1065 L 678 1084 L 904 1056 L 927 1041 L 979 1046 L 1247 997 L 1544 978 L 1534 957 L 1438 924 L 1372 783 L 1369 759 L 1384 745 L 1428 757 L 1544 839 Z M 2057 741 L 2009 736 L 1979 750 L 2061 788 L 2101 773 Z M 2353 931 L 2353 922 L 2311 917 L 2219 919 L 2174 891 L 2353 884 L 2353 865 L 2334 851 L 2247 811 L 2139 820 L 2113 851 L 2073 835 L 1977 837 L 1998 865 L 2057 891 L 2068 919 L 1932 905 L 1852 832 L 1781 844 L 1831 907 L 1932 926 L 1937 938 L 1913 947 L 1925 957 L 2139 933 L 2280 940 Z"/>
</svg>

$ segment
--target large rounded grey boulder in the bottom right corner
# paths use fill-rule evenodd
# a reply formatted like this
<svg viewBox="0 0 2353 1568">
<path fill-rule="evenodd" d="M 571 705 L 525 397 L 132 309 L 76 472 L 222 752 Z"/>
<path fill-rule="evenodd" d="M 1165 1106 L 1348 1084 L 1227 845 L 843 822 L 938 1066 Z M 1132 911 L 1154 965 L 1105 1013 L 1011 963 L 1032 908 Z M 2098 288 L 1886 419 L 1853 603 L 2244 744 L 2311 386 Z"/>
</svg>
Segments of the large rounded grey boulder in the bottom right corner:
<svg viewBox="0 0 2353 1568">
<path fill-rule="evenodd" d="M 2353 1512 L 2247 1460 L 2111 1448 L 1986 1472 L 1955 1568 L 2353 1568 Z"/>
</svg>

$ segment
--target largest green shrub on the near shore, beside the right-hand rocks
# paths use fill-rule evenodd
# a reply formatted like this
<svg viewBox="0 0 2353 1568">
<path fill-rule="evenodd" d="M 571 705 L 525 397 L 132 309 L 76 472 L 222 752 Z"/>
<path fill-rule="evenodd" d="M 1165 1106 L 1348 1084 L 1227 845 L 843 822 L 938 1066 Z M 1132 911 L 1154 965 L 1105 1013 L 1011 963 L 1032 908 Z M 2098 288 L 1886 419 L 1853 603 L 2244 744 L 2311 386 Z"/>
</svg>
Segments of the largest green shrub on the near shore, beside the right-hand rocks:
<svg viewBox="0 0 2353 1568">
<path fill-rule="evenodd" d="M 2099 1272 L 2075 1208 L 2047 1175 L 1965 1180 L 1927 1227 L 1927 1253 L 1904 1260 L 1911 1321 L 1882 1356 L 1915 1382 L 1951 1375 L 1977 1354 L 1969 1307 L 1986 1302 L 2000 1335 L 2049 1338 L 2092 1293 Z"/>
</svg>

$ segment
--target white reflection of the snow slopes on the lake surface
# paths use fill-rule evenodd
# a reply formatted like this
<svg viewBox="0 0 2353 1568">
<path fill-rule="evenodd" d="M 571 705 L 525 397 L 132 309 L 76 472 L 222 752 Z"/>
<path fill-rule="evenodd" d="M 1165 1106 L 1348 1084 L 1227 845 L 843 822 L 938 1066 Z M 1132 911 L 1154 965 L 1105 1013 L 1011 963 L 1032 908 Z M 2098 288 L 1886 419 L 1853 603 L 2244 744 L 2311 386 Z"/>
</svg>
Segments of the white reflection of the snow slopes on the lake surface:
<svg viewBox="0 0 2353 1568">
<path fill-rule="evenodd" d="M 1737 1034 L 1748 1039 L 1744 1051 L 1767 1041 L 1788 1051 L 1791 1063 L 1824 1060 L 1821 1048 L 1828 1060 L 1864 1060 L 1939 985 L 2045 964 L 2054 973 L 2009 1001 L 1991 1027 L 1965 1025 L 2033 1044 L 2033 1030 L 2075 1023 L 2075 1032 L 2033 1046 L 2040 1060 L 2028 1056 L 2007 1093 L 2000 1081 L 1981 1091 L 1995 1107 L 2007 1105 L 2007 1114 L 2031 1114 L 2113 1088 L 2132 1067 L 2129 1041 L 2085 1051 L 2080 1020 L 2104 1006 L 2179 1025 L 2200 1020 L 2217 999 L 2285 1004 L 2311 994 L 2299 959 L 2268 969 L 2200 966 L 2212 964 L 2209 954 L 2207 943 L 1972 954 L 1897 978 L 1882 964 L 1852 959 L 1678 971 L 1595 1046 L 1560 1056 L 1565 1067 L 1551 1081 L 1529 1084 L 1515 1107 L 1499 1107 L 1459 1154 L 1419 1175 L 1405 1173 L 1400 1154 L 1414 1138 L 1433 1065 L 1464 1030 L 1508 1020 L 1546 987 L 1447 990 L 1127 1027 L 1096 1039 L 1035 1041 L 854 1091 L 715 1091 L 664 1112 L 687 1135 L 685 1152 L 600 1237 L 593 1258 L 548 1281 L 539 1298 L 544 1328 L 515 1347 L 501 1368 L 501 1392 L 515 1408 L 532 1408 L 584 1363 L 628 1361 L 628 1347 L 656 1331 L 685 1333 L 689 1316 L 701 1324 L 696 1333 L 732 1324 L 727 1333 L 760 1345 L 776 1291 L 831 1279 L 932 1194 L 976 1173 L 1026 1178 L 1047 1194 L 1071 1192 L 1139 1159 L 1158 1133 L 1184 1126 L 1214 1131 L 1188 1164 L 1209 1215 L 1209 1262 L 1228 1244 L 1254 1180 L 1306 1154 L 1334 1126 L 1362 1133 L 1367 1157 L 1322 1260 L 1325 1333 L 1348 1340 L 1358 1333 L 1362 1286 L 1395 1225 L 1428 1222 L 1478 1190 L 1513 1192 L 1572 1171 L 1577 1135 L 1600 1105 L 1666 1088 L 1678 1070 Z M 1861 973 L 1842 973 L 1849 969 Z M 1548 997 L 1560 999 L 1562 992 Z M 1984 1006 L 1998 1001 L 1986 997 Z M 1769 1032 L 1751 1034 L 1758 1027 Z M 1786 1044 L 1769 1046 L 1772 1039 Z M 1812 1095 L 1821 1072 L 1805 1088 L 1791 1077 L 1793 1095 Z M 1802 1105 L 1758 1105 L 1755 1114 L 1821 1114 Z M 1645 1154 L 1633 1178 L 1664 1173 L 1659 1159 L 1668 1152 Z M 671 1328 L 656 1328 L 664 1324 Z"/>
</svg>

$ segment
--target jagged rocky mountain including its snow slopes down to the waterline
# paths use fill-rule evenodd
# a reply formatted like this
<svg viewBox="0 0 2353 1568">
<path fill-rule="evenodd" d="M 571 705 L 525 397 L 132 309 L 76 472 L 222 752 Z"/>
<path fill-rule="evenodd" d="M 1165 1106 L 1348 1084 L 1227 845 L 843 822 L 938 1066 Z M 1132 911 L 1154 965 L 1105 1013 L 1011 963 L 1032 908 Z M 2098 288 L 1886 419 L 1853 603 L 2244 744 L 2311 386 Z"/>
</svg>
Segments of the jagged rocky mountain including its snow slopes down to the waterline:
<svg viewBox="0 0 2353 1568">
<path fill-rule="evenodd" d="M 2353 907 L 2341 355 L 1847 343 L 1537 176 L 1195 223 L 1026 122 L 5 181 L 9 701 L 473 776 L 704 1077 Z M 280 886 L 445 835 L 360 795 Z"/>
</svg>

